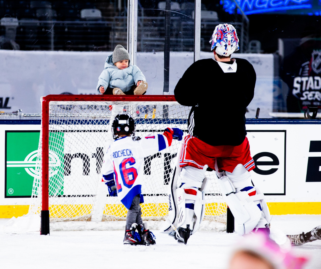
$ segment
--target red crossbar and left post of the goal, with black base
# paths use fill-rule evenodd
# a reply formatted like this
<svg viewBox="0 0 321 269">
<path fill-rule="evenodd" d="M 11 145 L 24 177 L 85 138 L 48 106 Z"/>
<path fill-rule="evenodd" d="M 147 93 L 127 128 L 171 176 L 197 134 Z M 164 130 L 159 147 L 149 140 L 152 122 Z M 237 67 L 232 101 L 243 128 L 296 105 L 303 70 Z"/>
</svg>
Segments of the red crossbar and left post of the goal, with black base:
<svg viewBox="0 0 321 269">
<path fill-rule="evenodd" d="M 148 96 L 126 96 L 126 95 L 47 95 L 42 98 L 42 207 L 41 207 L 41 229 L 40 234 L 49 234 L 49 103 L 51 101 L 70 102 L 99 102 L 99 101 L 123 101 L 123 102 L 175 102 L 173 95 L 148 95 Z"/>
</svg>

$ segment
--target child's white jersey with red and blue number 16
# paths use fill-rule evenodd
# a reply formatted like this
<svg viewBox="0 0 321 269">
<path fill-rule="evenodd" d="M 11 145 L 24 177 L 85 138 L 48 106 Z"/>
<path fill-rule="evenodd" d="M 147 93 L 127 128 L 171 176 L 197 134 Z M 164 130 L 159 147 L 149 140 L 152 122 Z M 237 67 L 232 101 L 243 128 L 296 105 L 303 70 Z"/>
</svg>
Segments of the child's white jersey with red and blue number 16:
<svg viewBox="0 0 321 269">
<path fill-rule="evenodd" d="M 169 132 L 139 137 L 122 137 L 108 148 L 102 164 L 102 181 L 116 181 L 117 196 L 127 209 L 133 198 L 142 193 L 144 157 L 169 147 L 173 136 Z M 143 203 L 143 195 L 141 195 Z"/>
</svg>

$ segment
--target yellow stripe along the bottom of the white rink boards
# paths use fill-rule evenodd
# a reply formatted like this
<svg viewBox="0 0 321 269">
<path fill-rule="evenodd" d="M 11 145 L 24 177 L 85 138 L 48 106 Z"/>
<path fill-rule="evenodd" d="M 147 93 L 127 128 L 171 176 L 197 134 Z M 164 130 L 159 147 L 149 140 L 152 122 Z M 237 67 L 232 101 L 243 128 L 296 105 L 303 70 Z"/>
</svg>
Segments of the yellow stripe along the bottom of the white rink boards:
<svg viewBox="0 0 321 269">
<path fill-rule="evenodd" d="M 271 202 L 267 203 L 271 215 L 286 214 L 321 214 L 321 202 Z M 141 204 L 144 217 L 165 216 L 168 214 L 168 204 L 166 203 L 143 203 Z M 50 217 L 77 217 L 79 215 L 88 215 L 91 213 L 92 205 L 51 205 L 49 207 Z M 0 218 L 20 217 L 27 214 L 29 206 L 27 205 L 9 205 L 0 206 Z M 207 203 L 205 215 L 216 216 L 226 212 L 226 204 Z M 127 209 L 121 204 L 106 205 L 105 215 L 115 215 L 125 217 Z"/>
</svg>

